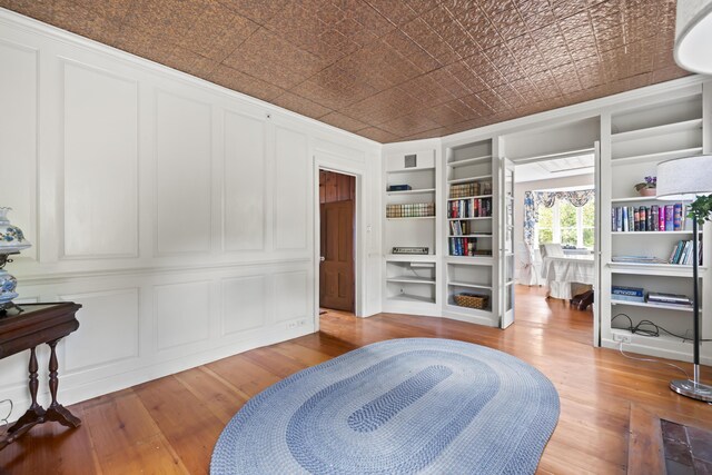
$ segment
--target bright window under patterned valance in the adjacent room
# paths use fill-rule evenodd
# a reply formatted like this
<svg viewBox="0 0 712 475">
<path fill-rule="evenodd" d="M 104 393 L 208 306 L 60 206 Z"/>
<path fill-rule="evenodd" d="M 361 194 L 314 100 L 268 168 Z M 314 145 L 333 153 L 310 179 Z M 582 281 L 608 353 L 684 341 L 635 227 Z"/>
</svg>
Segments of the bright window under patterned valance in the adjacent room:
<svg viewBox="0 0 712 475">
<path fill-rule="evenodd" d="M 595 237 L 595 202 L 591 199 L 576 208 L 558 199 L 553 207 L 540 206 L 538 222 L 534 228 L 534 243 L 560 243 L 562 246 L 593 249 Z"/>
</svg>

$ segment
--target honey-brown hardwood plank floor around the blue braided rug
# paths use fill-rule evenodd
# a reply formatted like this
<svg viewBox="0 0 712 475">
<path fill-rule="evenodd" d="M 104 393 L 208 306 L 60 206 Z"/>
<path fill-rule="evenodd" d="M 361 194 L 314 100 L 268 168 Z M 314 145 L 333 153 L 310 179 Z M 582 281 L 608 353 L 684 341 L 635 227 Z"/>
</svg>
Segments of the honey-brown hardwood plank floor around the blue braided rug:
<svg viewBox="0 0 712 475">
<path fill-rule="evenodd" d="M 681 377 L 675 369 L 593 348 L 591 311 L 543 295 L 520 286 L 516 323 L 504 331 L 439 318 L 380 314 L 360 319 L 329 311 L 322 315 L 318 334 L 73 405 L 83 422 L 79 429 L 34 427 L 0 452 L 0 473 L 207 473 L 222 427 L 257 393 L 359 346 L 414 336 L 497 348 L 552 379 L 561 418 L 540 463 L 542 474 L 625 473 L 632 404 L 712 418 L 712 406 L 668 388 L 670 379 Z M 712 379 L 709 367 L 702 377 Z"/>
</svg>

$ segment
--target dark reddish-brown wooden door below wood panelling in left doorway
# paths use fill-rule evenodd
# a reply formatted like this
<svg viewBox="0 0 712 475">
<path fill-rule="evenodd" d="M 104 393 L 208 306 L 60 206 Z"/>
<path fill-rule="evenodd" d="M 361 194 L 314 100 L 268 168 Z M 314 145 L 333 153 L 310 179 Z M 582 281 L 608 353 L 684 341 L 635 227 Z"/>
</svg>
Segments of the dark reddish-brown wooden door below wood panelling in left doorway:
<svg viewBox="0 0 712 475">
<path fill-rule="evenodd" d="M 325 202 L 320 212 L 319 306 L 354 311 L 354 200 Z"/>
</svg>

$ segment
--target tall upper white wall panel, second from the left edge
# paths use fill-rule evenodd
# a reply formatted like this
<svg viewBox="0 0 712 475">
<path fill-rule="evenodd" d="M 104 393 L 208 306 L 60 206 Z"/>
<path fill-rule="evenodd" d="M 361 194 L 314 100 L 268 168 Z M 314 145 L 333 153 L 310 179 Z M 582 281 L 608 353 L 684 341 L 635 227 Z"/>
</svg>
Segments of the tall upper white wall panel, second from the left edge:
<svg viewBox="0 0 712 475">
<path fill-rule="evenodd" d="M 138 257 L 138 81 L 61 61 L 61 258 Z"/>
</svg>

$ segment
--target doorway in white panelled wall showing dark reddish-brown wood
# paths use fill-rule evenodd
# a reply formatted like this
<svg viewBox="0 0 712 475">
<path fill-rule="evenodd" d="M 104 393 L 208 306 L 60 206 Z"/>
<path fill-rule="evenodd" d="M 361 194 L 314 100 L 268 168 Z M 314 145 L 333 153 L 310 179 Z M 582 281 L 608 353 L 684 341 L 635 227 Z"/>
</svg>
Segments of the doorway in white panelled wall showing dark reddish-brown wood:
<svg viewBox="0 0 712 475">
<path fill-rule="evenodd" d="M 319 308 L 355 310 L 356 178 L 319 170 Z"/>
</svg>

